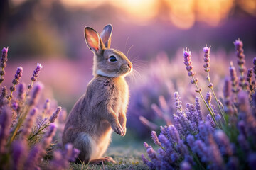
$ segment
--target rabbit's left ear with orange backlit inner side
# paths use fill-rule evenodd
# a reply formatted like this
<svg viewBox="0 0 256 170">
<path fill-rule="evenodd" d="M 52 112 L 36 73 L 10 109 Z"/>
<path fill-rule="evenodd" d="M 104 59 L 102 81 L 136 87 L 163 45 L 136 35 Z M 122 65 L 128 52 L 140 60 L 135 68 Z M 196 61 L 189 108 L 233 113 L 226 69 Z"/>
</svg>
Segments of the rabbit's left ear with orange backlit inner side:
<svg viewBox="0 0 256 170">
<path fill-rule="evenodd" d="M 85 27 L 85 42 L 92 52 L 100 53 L 104 49 L 100 35 L 90 27 Z"/>
</svg>

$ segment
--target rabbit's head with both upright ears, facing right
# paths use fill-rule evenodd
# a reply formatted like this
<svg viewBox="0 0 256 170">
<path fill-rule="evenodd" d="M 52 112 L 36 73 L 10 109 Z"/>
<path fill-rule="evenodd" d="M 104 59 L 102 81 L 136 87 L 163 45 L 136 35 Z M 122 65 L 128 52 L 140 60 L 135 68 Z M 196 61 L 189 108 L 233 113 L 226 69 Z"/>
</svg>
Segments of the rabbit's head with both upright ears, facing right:
<svg viewBox="0 0 256 170">
<path fill-rule="evenodd" d="M 103 28 L 100 35 L 96 30 L 85 27 L 85 42 L 94 53 L 93 75 L 122 77 L 132 72 L 132 62 L 120 51 L 110 48 L 112 25 Z"/>
</svg>

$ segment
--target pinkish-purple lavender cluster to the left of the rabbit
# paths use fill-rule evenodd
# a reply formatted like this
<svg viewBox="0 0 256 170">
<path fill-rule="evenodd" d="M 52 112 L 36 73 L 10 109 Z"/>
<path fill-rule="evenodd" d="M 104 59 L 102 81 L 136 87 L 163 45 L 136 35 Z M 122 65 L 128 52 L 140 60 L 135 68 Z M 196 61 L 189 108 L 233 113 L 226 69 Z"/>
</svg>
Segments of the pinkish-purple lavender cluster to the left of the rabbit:
<svg viewBox="0 0 256 170">
<path fill-rule="evenodd" d="M 8 48 L 2 50 L 1 57 L 1 78 L 6 67 L 6 57 Z M 33 72 L 32 81 L 36 81 L 38 73 L 41 70 L 41 64 L 38 64 Z M 19 81 L 21 79 L 23 69 L 18 67 L 12 81 L 13 86 L 10 88 L 10 94 L 6 87 L 1 87 L 0 95 L 0 169 L 40 169 L 43 157 L 50 154 L 51 150 L 55 157 L 49 163 L 48 169 L 67 169 L 70 161 L 75 161 L 78 157 L 78 149 L 68 144 L 65 149 L 58 149 L 53 137 L 55 132 L 61 131 L 65 122 L 65 112 L 61 113 L 61 107 L 57 107 L 56 111 L 50 118 L 47 118 L 43 111 L 52 111 L 49 100 L 46 106 L 38 103 L 41 98 L 43 84 L 37 83 L 26 89 L 26 84 Z M 1 83 L 0 83 L 1 85 Z M 18 85 L 18 90 L 16 90 Z M 13 93 L 16 92 L 17 94 Z M 54 108 L 56 106 L 53 106 Z M 58 115 L 62 115 L 62 120 L 56 121 Z M 55 122 L 55 123 L 53 123 Z M 58 128 L 57 128 L 58 127 Z M 58 139 L 60 142 L 60 139 Z M 49 157 L 49 156 L 48 156 Z"/>
</svg>

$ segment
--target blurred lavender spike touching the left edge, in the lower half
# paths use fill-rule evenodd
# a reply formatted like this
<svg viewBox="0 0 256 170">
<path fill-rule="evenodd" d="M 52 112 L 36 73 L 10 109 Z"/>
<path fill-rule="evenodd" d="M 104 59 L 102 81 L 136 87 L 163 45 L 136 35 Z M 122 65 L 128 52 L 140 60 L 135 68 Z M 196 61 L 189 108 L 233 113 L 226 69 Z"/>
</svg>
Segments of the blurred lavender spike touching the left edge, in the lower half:
<svg viewBox="0 0 256 170">
<path fill-rule="evenodd" d="M 0 114 L 0 154 L 6 152 L 6 142 L 10 133 L 11 126 L 11 112 L 9 108 L 4 106 Z"/>
</svg>

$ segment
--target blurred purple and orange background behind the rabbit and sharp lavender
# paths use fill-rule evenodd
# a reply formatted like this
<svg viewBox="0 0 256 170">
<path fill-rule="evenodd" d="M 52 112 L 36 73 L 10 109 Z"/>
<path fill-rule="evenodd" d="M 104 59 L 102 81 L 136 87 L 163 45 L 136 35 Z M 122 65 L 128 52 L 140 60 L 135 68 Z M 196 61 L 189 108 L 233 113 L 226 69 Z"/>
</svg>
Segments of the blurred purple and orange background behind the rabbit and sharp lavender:
<svg viewBox="0 0 256 170">
<path fill-rule="evenodd" d="M 228 75 L 237 38 L 244 42 L 248 67 L 256 56 L 255 0 L 1 0 L 0 14 L 0 47 L 9 46 L 4 85 L 10 86 L 18 66 L 24 70 L 21 81 L 29 84 L 39 62 L 45 98 L 55 98 L 68 112 L 92 79 L 84 28 L 101 32 L 112 23 L 112 48 L 127 54 L 137 70 L 127 78 L 127 123 L 128 132 L 139 137 L 149 137 L 139 115 L 164 125 L 152 103 L 164 97 L 173 106 L 174 91 L 182 96 L 194 90 L 188 88 L 183 48 L 189 47 L 195 67 L 198 61 L 196 68 L 203 70 L 202 47 L 211 46 L 215 84 Z"/>
</svg>

